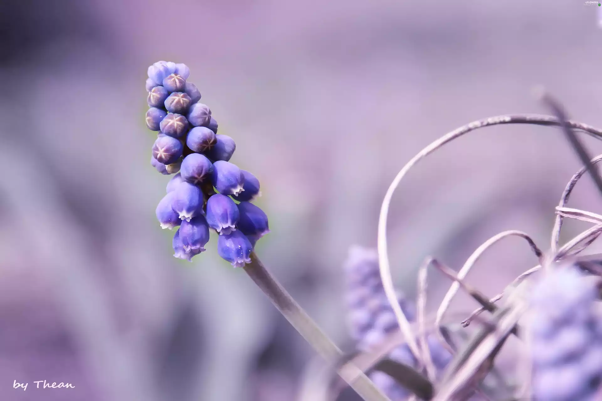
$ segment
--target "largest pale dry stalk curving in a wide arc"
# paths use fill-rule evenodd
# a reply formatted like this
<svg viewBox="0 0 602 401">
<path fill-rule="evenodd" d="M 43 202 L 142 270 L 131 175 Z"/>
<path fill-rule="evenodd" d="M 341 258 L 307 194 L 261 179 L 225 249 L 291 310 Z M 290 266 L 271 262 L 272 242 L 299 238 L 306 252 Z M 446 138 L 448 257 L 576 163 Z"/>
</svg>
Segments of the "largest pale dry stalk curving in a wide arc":
<svg viewBox="0 0 602 401">
<path fill-rule="evenodd" d="M 389 205 L 391 204 L 391 199 L 393 198 L 393 193 L 399 186 L 399 183 L 403 179 L 403 177 L 408 173 L 408 171 L 414 167 L 417 162 L 421 159 L 424 159 L 426 156 L 430 155 L 430 153 L 437 150 L 442 145 L 447 142 L 452 141 L 453 139 L 459 138 L 462 135 L 465 135 L 468 132 L 476 130 L 477 128 L 495 126 L 500 124 L 536 124 L 543 126 L 568 126 L 573 129 L 582 130 L 589 135 L 595 136 L 596 138 L 602 138 L 602 131 L 596 129 L 595 127 L 589 126 L 588 124 L 579 123 L 576 121 L 560 121 L 558 118 L 553 117 L 551 115 L 536 115 L 536 114 L 521 114 L 521 115 L 498 115 L 495 117 L 485 118 L 483 120 L 473 121 L 465 126 L 459 127 L 452 132 L 448 132 L 441 138 L 432 142 L 430 145 L 421 150 L 417 155 L 414 156 L 403 168 L 397 176 L 393 179 L 391 185 L 386 191 L 385 197 L 383 198 L 382 205 L 380 207 L 379 214 L 379 223 L 378 223 L 378 254 L 379 254 L 379 265 L 380 265 L 380 278 L 382 279 L 383 287 L 385 289 L 386 298 L 391 304 L 391 308 L 397 317 L 397 321 L 399 323 L 399 327 L 403 334 L 406 336 L 408 340 L 408 346 L 412 351 L 412 354 L 420 360 L 420 351 L 418 350 L 418 346 L 416 341 L 411 336 L 411 331 L 409 329 L 409 322 L 406 318 L 405 314 L 403 314 L 402 308 L 397 303 L 397 296 L 395 292 L 395 287 L 393 285 L 393 278 L 391 277 L 391 268 L 389 267 L 389 259 L 388 259 L 388 249 L 386 242 L 386 221 L 389 213 Z"/>
</svg>

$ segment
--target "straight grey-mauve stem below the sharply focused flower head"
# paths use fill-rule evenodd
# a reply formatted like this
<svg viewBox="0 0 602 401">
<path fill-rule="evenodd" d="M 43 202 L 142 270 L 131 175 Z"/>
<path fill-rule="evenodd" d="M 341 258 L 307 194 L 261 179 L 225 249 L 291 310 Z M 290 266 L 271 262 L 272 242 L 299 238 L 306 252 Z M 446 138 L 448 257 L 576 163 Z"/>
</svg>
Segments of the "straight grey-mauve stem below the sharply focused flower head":
<svg viewBox="0 0 602 401">
<path fill-rule="evenodd" d="M 335 364 L 341 360 L 343 352 L 321 331 L 314 320 L 305 313 L 303 308 L 276 281 L 272 274 L 265 269 L 265 266 L 254 252 L 251 254 L 251 263 L 244 266 L 244 271 L 327 363 Z M 339 370 L 337 373 L 365 401 L 389 401 L 360 369 Z"/>
</svg>

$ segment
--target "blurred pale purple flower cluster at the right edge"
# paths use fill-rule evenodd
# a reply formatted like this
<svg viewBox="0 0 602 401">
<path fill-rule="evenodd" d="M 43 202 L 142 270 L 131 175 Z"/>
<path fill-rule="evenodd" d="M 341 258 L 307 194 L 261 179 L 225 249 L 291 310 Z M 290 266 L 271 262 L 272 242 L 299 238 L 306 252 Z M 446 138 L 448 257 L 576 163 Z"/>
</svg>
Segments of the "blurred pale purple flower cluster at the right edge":
<svg viewBox="0 0 602 401">
<path fill-rule="evenodd" d="M 560 265 L 535 286 L 529 335 L 535 399 L 592 400 L 602 382 L 602 310 L 594 276 Z"/>
</svg>

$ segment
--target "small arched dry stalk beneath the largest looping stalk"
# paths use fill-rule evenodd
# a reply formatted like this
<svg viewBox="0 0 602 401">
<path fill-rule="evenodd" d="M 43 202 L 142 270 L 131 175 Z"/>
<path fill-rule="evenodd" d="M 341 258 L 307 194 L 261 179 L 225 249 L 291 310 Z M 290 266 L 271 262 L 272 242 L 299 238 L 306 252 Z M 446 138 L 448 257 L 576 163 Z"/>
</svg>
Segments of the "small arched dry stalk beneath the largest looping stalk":
<svg viewBox="0 0 602 401">
<path fill-rule="evenodd" d="M 474 251 L 474 253 L 467 259 L 466 263 L 464 263 L 464 266 L 462 266 L 462 268 L 458 272 L 458 276 L 457 276 L 458 279 L 464 280 L 464 278 L 466 277 L 468 272 L 470 272 L 470 269 L 473 268 L 474 263 L 476 263 L 477 260 L 479 260 L 479 258 L 482 256 L 482 254 L 490 246 L 494 245 L 496 242 L 500 241 L 501 239 L 504 239 L 505 237 L 509 237 L 509 236 L 518 236 L 518 237 L 522 237 L 522 238 L 526 239 L 527 242 L 529 242 L 529 246 L 533 250 L 533 253 L 535 253 L 535 256 L 539 259 L 539 264 L 543 265 L 543 263 L 544 263 L 542 260 L 543 254 L 542 254 L 541 250 L 539 250 L 537 245 L 535 245 L 535 242 L 533 242 L 531 237 L 529 237 L 529 235 L 527 235 L 526 233 L 523 233 L 523 231 L 509 230 L 509 231 L 503 231 L 502 233 L 499 233 L 499 234 L 489 238 L 481 246 L 479 246 L 479 248 L 477 248 L 476 251 Z M 454 281 L 454 283 L 452 283 L 452 286 L 450 286 L 450 289 L 445 294 L 445 297 L 443 298 L 443 301 L 441 301 L 441 305 L 439 306 L 439 309 L 437 310 L 435 326 L 439 326 L 439 323 L 443 319 L 443 315 L 445 314 L 445 311 L 447 311 L 447 309 L 449 308 L 449 305 L 452 303 L 453 297 L 456 295 L 456 293 L 458 293 L 459 288 L 460 288 L 460 284 L 458 283 L 458 281 Z M 444 336 L 441 334 L 441 332 L 439 330 L 437 330 L 436 332 L 438 333 L 438 337 L 441 338 L 442 340 L 444 340 Z"/>
</svg>

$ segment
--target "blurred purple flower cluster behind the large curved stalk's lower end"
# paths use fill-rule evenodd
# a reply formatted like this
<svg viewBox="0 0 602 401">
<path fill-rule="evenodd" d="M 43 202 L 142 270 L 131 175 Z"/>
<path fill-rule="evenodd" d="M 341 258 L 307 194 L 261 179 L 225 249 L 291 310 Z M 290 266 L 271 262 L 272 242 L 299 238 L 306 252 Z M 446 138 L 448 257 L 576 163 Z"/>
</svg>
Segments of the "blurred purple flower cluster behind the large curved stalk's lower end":
<svg viewBox="0 0 602 401">
<path fill-rule="evenodd" d="M 349 308 L 349 328 L 357 341 L 358 349 L 370 352 L 382 344 L 386 336 L 399 331 L 399 324 L 393 308 L 386 299 L 385 289 L 380 280 L 378 253 L 376 249 L 352 246 L 344 265 L 347 281 L 347 307 Z M 403 294 L 398 294 L 398 302 L 408 320 L 415 319 L 415 307 Z M 427 337 L 433 365 L 442 371 L 452 360 L 452 355 L 437 340 L 435 335 Z M 394 361 L 417 367 L 418 363 L 407 344 L 394 349 L 389 358 Z M 392 401 L 406 400 L 409 391 L 382 372 L 373 372 L 370 378 Z"/>
</svg>

